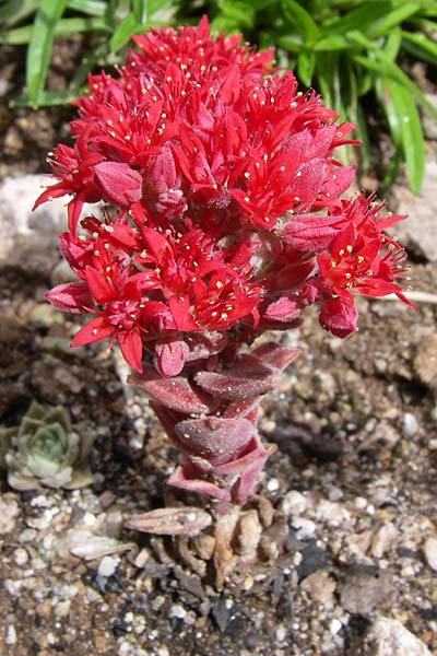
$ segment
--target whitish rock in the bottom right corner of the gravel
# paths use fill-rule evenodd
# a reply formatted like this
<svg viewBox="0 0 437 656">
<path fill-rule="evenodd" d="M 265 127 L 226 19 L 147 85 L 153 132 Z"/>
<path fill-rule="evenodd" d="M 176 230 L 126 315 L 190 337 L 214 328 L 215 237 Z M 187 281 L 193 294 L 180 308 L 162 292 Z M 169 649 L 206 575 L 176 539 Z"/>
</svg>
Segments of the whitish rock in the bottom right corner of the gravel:
<svg viewBox="0 0 437 656">
<path fill-rule="evenodd" d="M 366 633 L 363 656 L 433 656 L 398 620 L 379 617 Z"/>
</svg>

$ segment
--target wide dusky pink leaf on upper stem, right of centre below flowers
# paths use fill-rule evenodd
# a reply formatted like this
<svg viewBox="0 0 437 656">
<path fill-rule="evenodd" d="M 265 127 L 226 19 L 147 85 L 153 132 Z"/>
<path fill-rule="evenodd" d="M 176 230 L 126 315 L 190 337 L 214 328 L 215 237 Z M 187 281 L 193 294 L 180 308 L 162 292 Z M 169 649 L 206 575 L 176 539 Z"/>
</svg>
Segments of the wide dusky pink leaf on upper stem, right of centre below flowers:
<svg viewBox="0 0 437 656">
<path fill-rule="evenodd" d="M 272 370 L 248 353 L 226 372 L 199 372 L 194 379 L 210 394 L 231 401 L 258 397 L 276 386 Z"/>
</svg>

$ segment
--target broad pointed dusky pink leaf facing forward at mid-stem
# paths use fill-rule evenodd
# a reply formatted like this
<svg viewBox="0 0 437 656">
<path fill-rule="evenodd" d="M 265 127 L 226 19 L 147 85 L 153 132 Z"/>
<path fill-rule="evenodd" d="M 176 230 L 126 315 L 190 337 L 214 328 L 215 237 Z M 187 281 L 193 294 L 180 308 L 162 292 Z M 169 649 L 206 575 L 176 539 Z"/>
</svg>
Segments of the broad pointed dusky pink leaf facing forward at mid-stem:
<svg viewBox="0 0 437 656">
<path fill-rule="evenodd" d="M 175 429 L 185 453 L 200 456 L 214 467 L 240 453 L 253 434 L 253 425 L 240 418 L 193 419 L 178 423 Z"/>
</svg>

